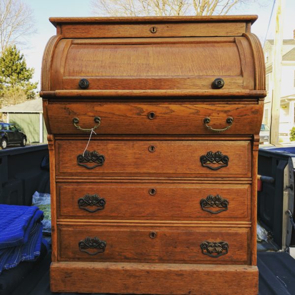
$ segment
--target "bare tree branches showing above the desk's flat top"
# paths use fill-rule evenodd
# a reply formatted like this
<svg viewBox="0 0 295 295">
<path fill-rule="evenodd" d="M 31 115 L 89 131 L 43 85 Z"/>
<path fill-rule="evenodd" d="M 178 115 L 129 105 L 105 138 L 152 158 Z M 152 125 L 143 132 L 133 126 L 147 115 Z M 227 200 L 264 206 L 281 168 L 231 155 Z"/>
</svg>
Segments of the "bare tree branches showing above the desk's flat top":
<svg viewBox="0 0 295 295">
<path fill-rule="evenodd" d="M 100 16 L 224 15 L 256 0 L 91 0 Z"/>
</svg>

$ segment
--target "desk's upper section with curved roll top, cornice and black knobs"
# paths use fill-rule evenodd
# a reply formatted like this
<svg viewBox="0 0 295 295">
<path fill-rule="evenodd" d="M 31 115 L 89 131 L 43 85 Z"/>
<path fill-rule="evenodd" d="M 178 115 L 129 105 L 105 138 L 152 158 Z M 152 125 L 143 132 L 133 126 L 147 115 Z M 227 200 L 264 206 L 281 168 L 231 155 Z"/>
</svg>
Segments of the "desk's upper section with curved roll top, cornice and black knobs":
<svg viewBox="0 0 295 295">
<path fill-rule="evenodd" d="M 58 34 L 44 52 L 41 94 L 265 96 L 255 19 L 51 19 Z"/>
</svg>

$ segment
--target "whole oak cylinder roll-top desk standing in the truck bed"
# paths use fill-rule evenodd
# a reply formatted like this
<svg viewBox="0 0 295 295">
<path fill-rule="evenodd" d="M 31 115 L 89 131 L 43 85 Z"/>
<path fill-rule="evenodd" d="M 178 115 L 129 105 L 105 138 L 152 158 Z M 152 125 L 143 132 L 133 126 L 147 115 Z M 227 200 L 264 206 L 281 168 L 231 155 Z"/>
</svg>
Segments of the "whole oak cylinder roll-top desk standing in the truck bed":
<svg viewBox="0 0 295 295">
<path fill-rule="evenodd" d="M 50 19 L 53 292 L 258 293 L 256 19 Z"/>
</svg>

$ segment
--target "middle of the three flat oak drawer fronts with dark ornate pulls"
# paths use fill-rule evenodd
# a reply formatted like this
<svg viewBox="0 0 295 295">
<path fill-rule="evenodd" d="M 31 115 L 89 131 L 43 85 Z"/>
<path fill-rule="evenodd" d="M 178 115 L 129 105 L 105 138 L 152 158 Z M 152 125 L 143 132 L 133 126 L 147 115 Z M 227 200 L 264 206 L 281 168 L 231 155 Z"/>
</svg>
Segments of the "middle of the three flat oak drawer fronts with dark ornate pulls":
<svg viewBox="0 0 295 295">
<path fill-rule="evenodd" d="M 57 183 L 59 219 L 250 221 L 249 184 Z"/>
</svg>

